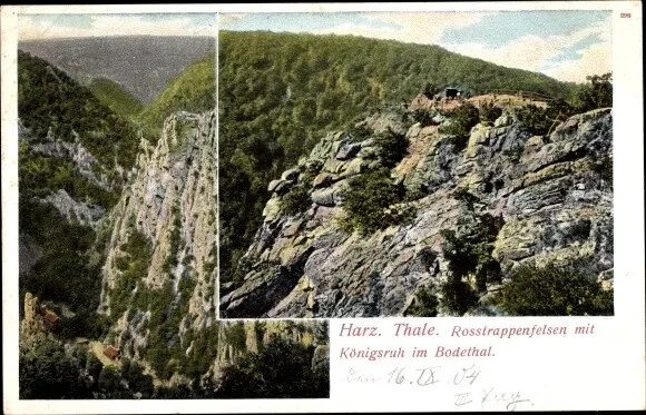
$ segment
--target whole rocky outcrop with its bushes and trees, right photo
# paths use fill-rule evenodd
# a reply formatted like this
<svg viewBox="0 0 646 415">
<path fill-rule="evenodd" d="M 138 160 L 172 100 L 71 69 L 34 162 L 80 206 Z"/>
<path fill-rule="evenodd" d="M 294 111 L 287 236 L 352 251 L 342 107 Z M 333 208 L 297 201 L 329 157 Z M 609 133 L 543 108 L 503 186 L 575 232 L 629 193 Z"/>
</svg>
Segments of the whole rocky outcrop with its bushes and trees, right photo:
<svg viewBox="0 0 646 415">
<path fill-rule="evenodd" d="M 427 100 L 331 131 L 270 181 L 221 316 L 611 315 L 611 76 L 588 79 L 575 106 Z"/>
</svg>

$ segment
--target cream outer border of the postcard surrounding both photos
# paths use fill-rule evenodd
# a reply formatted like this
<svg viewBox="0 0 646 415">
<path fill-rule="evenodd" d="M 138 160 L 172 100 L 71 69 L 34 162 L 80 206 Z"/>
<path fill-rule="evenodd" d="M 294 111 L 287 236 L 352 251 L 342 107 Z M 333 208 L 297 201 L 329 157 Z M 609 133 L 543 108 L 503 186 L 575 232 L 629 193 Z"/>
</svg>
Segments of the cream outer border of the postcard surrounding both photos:
<svg viewBox="0 0 646 415">
<path fill-rule="evenodd" d="M 365 412 L 365 411 L 450 411 L 439 408 L 420 391 L 400 399 L 395 388 L 389 395 L 370 394 L 352 401 L 335 398 L 343 385 L 335 374 L 339 356 L 331 355 L 330 399 L 247 399 L 247 401 L 19 401 L 18 399 L 18 141 L 17 137 L 17 16 L 19 13 L 145 13 L 145 12 L 329 12 L 329 11 L 500 11 L 500 10 L 611 10 L 614 53 L 614 177 L 615 177 L 615 316 L 593 317 L 608 327 L 611 338 L 594 339 L 610 349 L 599 359 L 613 359 L 615 369 L 603 385 L 605 396 L 589 402 L 537 402 L 532 409 L 603 409 L 645 408 L 644 342 L 644 127 L 643 127 L 643 57 L 642 8 L 637 1 L 605 2 L 478 2 L 478 3 L 316 3 L 316 4 L 136 4 L 136 6 L 59 6 L 2 7 L 2 349 L 3 411 L 6 413 L 231 413 L 231 412 Z M 619 13 L 630 13 L 629 19 Z M 380 324 L 388 324 L 382 319 Z M 404 320 L 404 319 L 401 319 Z M 457 323 L 458 319 L 443 319 Z M 459 319 L 464 323 L 464 318 Z M 470 320 L 467 318 L 467 320 Z M 555 319 L 551 319 L 555 320 Z M 331 344 L 339 325 L 331 322 Z M 350 322 L 350 320 L 349 320 Z M 352 319 L 356 322 L 356 319 Z M 555 322 L 570 322 L 558 318 Z M 506 319 L 497 323 L 512 324 Z M 447 323 L 448 324 L 448 323 Z M 383 346 L 397 342 L 381 342 Z M 528 344 L 527 347 L 531 347 Z M 540 352 L 540 350 L 536 350 Z M 549 364 L 557 370 L 576 359 L 577 350 L 561 350 Z M 546 364 L 548 364 L 546 362 Z M 507 366 L 518 362 L 506 362 Z M 594 362 L 590 363 L 594 365 Z M 590 368 L 590 370 L 593 370 Z M 536 376 L 526 374 L 526 376 Z M 585 389 L 586 376 L 571 379 L 571 388 Z M 558 382 L 547 377 L 537 384 Z M 562 382 L 562 379 L 560 381 Z M 595 387 L 597 389 L 598 386 Z M 412 401 L 411 401 L 412 399 Z M 392 404 L 393 402 L 397 403 Z M 590 407 L 590 402 L 595 403 Z M 603 402 L 603 404 L 601 404 Z M 390 403 L 390 404 L 389 404 Z M 459 408 L 456 408 L 459 409 Z"/>
</svg>

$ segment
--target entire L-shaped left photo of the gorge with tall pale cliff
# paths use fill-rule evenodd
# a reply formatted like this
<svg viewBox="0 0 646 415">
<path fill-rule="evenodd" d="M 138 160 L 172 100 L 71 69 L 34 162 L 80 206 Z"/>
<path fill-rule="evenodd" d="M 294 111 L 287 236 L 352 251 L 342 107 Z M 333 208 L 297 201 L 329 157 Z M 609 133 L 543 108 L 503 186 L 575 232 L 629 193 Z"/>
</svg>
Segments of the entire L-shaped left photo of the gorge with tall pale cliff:
<svg viewBox="0 0 646 415">
<path fill-rule="evenodd" d="M 217 320 L 217 16 L 18 27 L 20 398 L 327 397 L 325 322 Z"/>
</svg>

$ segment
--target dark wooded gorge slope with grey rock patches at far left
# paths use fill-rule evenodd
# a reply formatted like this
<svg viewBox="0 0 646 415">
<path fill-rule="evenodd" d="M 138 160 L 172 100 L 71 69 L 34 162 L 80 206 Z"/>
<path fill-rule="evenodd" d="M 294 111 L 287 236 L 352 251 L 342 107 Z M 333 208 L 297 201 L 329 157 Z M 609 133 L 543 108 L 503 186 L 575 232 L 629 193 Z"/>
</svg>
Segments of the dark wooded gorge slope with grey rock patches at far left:
<svg viewBox="0 0 646 415">
<path fill-rule="evenodd" d="M 20 289 L 66 303 L 80 328 L 100 289 L 91 245 L 139 136 L 87 88 L 21 50 L 18 81 Z"/>
</svg>

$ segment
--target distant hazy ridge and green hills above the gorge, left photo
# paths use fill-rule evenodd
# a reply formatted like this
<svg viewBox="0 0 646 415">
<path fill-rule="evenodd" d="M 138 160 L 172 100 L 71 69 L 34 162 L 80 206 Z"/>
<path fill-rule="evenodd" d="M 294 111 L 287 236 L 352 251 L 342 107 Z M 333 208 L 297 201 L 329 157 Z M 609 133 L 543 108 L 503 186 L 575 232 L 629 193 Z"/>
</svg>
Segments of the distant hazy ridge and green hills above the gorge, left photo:
<svg viewBox="0 0 646 415">
<path fill-rule="evenodd" d="M 156 139 L 172 111 L 215 107 L 213 38 L 47 39 L 22 41 L 20 47 L 57 73 L 62 70 L 66 78 L 86 85 L 117 115 L 141 125 L 148 139 Z M 43 108 L 36 102 L 31 107 Z"/>
</svg>

